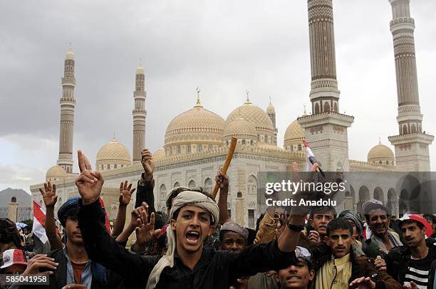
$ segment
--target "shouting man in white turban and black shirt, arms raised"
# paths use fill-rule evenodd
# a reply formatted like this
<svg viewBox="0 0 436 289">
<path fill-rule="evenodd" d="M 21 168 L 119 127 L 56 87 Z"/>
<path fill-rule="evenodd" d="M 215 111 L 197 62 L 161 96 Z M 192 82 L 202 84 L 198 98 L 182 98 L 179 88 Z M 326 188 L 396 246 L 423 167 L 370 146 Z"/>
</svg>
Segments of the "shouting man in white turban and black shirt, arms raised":
<svg viewBox="0 0 436 289">
<path fill-rule="evenodd" d="M 219 209 L 213 199 L 197 191 L 182 191 L 172 202 L 165 256 L 130 253 L 98 221 L 103 214 L 98 201 L 103 177 L 91 170 L 81 152 L 78 163 L 81 175 L 76 184 L 83 200 L 78 219 L 86 251 L 91 260 L 125 277 L 125 288 L 228 289 L 239 276 L 280 270 L 296 260 L 294 250 L 303 228 L 303 213 L 289 217 L 278 241 L 248 246 L 240 252 L 204 248 L 204 239 L 219 219 Z M 150 236 L 152 233 L 150 229 Z"/>
</svg>

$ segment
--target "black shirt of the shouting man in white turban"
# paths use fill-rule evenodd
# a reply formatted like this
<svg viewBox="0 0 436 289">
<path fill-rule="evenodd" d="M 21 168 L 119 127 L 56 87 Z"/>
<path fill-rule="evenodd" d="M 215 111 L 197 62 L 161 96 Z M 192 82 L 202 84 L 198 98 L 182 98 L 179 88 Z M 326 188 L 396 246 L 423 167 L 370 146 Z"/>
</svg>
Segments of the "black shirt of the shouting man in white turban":
<svg viewBox="0 0 436 289">
<path fill-rule="evenodd" d="M 81 206 L 78 214 L 88 256 L 125 278 L 125 288 L 145 288 L 160 256 L 139 256 L 119 246 L 98 221 L 100 214 L 103 211 L 98 201 Z M 281 252 L 276 241 L 248 246 L 242 252 L 203 248 L 202 257 L 194 270 L 187 268 L 175 256 L 175 266 L 162 271 L 156 288 L 229 289 L 239 276 L 280 270 L 293 261 L 296 261 L 295 253 Z"/>
</svg>

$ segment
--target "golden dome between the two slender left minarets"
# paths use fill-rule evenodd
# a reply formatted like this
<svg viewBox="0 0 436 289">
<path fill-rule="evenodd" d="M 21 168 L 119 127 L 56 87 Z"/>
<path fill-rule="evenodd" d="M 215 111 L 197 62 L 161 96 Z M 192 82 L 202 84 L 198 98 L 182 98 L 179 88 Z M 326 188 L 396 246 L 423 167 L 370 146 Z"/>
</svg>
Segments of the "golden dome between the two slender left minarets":
<svg viewBox="0 0 436 289">
<path fill-rule="evenodd" d="M 113 140 L 101 147 L 95 159 L 97 167 L 100 164 L 128 165 L 132 163 L 132 157 L 130 157 L 129 150 L 123 144 L 120 144 L 115 137 Z"/>
</svg>

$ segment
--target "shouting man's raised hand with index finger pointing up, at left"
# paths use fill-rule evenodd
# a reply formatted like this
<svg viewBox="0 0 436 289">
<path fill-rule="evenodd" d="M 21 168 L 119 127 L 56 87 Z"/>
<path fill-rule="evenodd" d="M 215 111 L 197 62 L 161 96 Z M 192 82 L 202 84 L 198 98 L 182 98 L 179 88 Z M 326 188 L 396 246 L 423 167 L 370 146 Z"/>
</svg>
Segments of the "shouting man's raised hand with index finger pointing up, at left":
<svg viewBox="0 0 436 289">
<path fill-rule="evenodd" d="M 91 169 L 88 158 L 81 150 L 78 150 L 77 155 L 81 174 L 76 179 L 76 186 L 81 194 L 83 204 L 87 205 L 98 200 L 105 181 L 100 172 L 94 172 Z"/>
</svg>

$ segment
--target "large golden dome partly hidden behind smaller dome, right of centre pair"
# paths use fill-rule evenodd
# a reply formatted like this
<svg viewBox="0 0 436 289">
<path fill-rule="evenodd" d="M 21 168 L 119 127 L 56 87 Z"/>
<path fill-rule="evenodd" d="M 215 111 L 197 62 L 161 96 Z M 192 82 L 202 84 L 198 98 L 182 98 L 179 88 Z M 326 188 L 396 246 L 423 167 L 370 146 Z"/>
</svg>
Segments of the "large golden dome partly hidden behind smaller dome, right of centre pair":
<svg viewBox="0 0 436 289">
<path fill-rule="evenodd" d="M 258 135 L 269 135 L 274 137 L 274 127 L 271 122 L 271 118 L 266 115 L 266 112 L 256 105 L 251 105 L 251 103 L 246 103 L 237 107 L 235 110 L 230 112 L 227 117 L 225 125 L 229 125 L 230 122 L 242 117 L 244 120 L 254 125 Z"/>
</svg>

